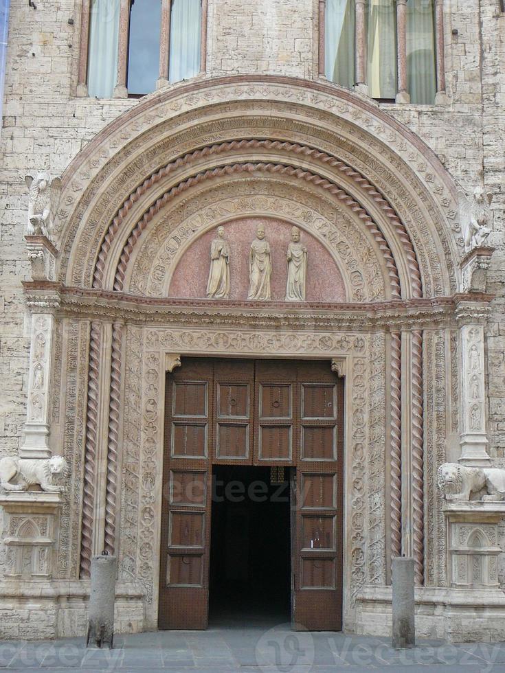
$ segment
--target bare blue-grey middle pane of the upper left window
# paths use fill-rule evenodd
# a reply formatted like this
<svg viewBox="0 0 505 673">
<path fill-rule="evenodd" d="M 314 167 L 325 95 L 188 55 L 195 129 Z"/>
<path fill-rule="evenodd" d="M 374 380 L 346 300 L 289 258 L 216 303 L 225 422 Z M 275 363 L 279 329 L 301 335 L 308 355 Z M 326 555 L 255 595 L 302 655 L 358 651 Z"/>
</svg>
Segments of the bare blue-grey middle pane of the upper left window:
<svg viewBox="0 0 505 673">
<path fill-rule="evenodd" d="M 161 0 L 131 0 L 128 36 L 128 93 L 156 89 L 159 76 Z"/>
</svg>

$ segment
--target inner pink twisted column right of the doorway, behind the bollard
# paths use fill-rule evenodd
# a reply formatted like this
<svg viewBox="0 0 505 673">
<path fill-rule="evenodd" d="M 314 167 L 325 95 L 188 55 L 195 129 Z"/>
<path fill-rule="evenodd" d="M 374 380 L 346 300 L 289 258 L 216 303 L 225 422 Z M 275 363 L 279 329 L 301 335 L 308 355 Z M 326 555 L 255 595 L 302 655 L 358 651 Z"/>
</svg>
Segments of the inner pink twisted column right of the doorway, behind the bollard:
<svg viewBox="0 0 505 673">
<path fill-rule="evenodd" d="M 401 556 L 401 333 L 391 334 L 391 556 Z"/>
</svg>

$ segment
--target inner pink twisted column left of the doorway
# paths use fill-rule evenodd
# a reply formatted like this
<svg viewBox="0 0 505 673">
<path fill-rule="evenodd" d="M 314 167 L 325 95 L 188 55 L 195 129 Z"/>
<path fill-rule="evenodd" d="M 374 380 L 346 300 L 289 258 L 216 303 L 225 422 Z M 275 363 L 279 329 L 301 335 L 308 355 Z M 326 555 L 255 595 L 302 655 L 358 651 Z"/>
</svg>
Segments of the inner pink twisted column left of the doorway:
<svg viewBox="0 0 505 673">
<path fill-rule="evenodd" d="M 119 444 L 121 404 L 121 351 L 123 325 L 113 323 L 111 354 L 111 390 L 109 398 L 109 444 L 107 446 L 107 475 L 105 494 L 104 550 L 115 552 L 115 507 L 117 492 L 117 447 Z"/>
</svg>

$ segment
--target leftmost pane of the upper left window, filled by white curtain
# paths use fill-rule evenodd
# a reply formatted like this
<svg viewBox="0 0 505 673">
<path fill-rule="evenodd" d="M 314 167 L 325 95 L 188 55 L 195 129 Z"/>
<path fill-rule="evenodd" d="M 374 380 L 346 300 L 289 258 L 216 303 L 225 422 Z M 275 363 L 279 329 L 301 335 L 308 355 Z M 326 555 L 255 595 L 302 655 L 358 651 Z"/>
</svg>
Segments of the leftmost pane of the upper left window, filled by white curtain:
<svg viewBox="0 0 505 673">
<path fill-rule="evenodd" d="M 111 98 L 117 79 L 120 0 L 91 0 L 88 48 L 88 92 Z"/>
</svg>

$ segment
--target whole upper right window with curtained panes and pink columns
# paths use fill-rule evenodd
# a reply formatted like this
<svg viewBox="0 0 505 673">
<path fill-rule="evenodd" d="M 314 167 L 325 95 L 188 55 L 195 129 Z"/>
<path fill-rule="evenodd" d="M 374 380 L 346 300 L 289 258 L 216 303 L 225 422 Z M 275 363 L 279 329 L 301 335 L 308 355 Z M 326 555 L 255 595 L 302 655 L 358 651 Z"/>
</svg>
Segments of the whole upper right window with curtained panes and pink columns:
<svg viewBox="0 0 505 673">
<path fill-rule="evenodd" d="M 366 85 L 371 98 L 434 103 L 436 57 L 443 59 L 443 31 L 436 29 L 442 19 L 435 3 L 326 0 L 319 67 L 328 80 L 348 89 Z M 442 63 L 438 69 L 443 73 Z M 438 84 L 443 87 L 444 82 Z"/>
</svg>

